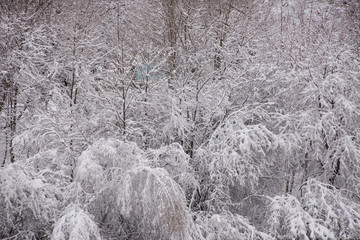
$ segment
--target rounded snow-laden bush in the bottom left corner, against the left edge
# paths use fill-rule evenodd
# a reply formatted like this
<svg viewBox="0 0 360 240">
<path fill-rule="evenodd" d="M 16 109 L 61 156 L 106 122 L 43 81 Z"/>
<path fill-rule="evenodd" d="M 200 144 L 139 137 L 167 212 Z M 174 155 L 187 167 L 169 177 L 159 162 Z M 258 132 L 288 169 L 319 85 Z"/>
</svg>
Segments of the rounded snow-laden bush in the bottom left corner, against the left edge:
<svg viewBox="0 0 360 240">
<path fill-rule="evenodd" d="M 13 232 L 19 239 L 26 239 L 40 237 L 40 232 L 48 234 L 58 214 L 61 192 L 48 183 L 43 173 L 27 162 L 0 168 L 0 236 Z"/>
</svg>

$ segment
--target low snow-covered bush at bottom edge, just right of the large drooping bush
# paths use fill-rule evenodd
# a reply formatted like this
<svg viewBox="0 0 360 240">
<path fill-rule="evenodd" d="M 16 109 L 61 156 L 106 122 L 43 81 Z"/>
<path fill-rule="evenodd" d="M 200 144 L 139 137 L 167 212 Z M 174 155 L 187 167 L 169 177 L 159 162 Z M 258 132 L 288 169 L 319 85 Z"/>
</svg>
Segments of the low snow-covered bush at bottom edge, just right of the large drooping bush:
<svg viewBox="0 0 360 240">
<path fill-rule="evenodd" d="M 196 214 L 196 224 L 205 240 L 273 239 L 256 230 L 244 217 L 232 214 Z"/>
</svg>

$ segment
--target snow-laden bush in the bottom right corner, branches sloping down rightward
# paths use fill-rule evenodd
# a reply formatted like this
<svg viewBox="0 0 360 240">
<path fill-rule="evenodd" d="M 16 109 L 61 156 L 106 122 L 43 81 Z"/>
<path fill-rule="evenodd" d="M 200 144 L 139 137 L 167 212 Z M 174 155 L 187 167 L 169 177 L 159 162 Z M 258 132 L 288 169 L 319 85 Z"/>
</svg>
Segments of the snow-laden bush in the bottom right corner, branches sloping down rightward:
<svg viewBox="0 0 360 240">
<path fill-rule="evenodd" d="M 303 187 L 303 208 L 337 239 L 360 237 L 360 205 L 334 187 L 309 180 Z"/>
</svg>

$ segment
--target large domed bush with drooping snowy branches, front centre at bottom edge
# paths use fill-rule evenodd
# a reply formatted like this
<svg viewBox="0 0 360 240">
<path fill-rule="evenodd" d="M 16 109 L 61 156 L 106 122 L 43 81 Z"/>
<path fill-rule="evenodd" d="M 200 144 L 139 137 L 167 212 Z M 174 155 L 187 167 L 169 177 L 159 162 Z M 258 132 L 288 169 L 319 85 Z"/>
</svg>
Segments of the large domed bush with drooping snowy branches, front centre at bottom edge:
<svg viewBox="0 0 360 240">
<path fill-rule="evenodd" d="M 129 170 L 118 203 L 122 214 L 139 224 L 144 239 L 193 239 L 196 232 L 183 190 L 164 169 Z"/>
</svg>

